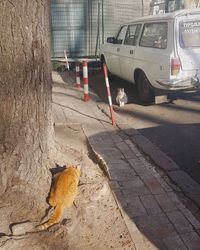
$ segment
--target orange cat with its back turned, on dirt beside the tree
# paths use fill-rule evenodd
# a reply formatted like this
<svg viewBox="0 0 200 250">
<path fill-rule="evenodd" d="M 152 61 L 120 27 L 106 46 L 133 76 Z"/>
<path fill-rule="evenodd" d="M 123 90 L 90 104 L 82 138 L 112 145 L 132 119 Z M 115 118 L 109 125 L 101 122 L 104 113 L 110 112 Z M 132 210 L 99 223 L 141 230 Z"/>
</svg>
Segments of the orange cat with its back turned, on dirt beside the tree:
<svg viewBox="0 0 200 250">
<path fill-rule="evenodd" d="M 79 177 L 79 166 L 70 166 L 63 172 L 56 174 L 49 197 L 49 204 L 54 208 L 54 212 L 47 222 L 37 226 L 39 230 L 44 230 L 58 223 L 62 217 L 63 209 L 73 204 L 78 192 Z"/>
</svg>

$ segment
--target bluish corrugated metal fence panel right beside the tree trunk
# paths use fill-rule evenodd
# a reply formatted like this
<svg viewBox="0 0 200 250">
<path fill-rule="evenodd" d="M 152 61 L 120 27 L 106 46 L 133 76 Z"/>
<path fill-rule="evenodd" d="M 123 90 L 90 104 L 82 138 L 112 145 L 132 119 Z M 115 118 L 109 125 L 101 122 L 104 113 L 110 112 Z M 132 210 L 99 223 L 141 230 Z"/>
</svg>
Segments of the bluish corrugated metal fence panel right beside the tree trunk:
<svg viewBox="0 0 200 250">
<path fill-rule="evenodd" d="M 63 57 L 64 49 L 85 54 L 86 6 L 84 1 L 52 1 L 52 56 Z"/>
</svg>

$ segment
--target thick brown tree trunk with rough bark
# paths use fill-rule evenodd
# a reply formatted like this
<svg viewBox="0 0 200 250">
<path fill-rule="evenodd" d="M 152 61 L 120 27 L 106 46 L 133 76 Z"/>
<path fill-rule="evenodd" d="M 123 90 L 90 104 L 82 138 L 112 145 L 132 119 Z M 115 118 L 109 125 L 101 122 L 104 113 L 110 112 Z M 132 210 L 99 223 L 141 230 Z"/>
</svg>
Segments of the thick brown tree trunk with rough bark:
<svg viewBox="0 0 200 250">
<path fill-rule="evenodd" d="M 49 8 L 49 0 L 0 1 L 0 215 L 10 222 L 34 218 L 49 190 Z"/>
</svg>

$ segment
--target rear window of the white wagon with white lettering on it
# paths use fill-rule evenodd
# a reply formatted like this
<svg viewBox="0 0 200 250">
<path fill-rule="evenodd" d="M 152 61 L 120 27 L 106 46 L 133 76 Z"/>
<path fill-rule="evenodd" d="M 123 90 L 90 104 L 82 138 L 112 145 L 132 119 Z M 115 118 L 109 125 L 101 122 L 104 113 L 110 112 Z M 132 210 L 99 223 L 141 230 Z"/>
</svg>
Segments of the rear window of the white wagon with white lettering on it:
<svg viewBox="0 0 200 250">
<path fill-rule="evenodd" d="M 180 22 L 181 48 L 200 47 L 200 20 Z"/>
</svg>

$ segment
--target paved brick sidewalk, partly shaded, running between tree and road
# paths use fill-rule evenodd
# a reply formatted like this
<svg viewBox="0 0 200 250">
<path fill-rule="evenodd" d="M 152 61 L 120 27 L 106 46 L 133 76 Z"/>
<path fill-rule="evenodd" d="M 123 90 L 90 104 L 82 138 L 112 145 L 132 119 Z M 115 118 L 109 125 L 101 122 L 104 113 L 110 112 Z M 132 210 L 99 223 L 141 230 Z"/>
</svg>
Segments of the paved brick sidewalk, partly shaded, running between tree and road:
<svg viewBox="0 0 200 250">
<path fill-rule="evenodd" d="M 109 178 L 116 202 L 135 249 L 200 249 L 199 210 L 167 176 L 142 154 L 131 140 L 130 130 L 111 125 L 97 107 L 99 98 L 83 102 L 83 90 L 73 87 L 74 77 L 55 73 L 53 111 L 55 125 L 81 124 L 91 150 Z M 131 133 L 137 133 L 131 130 Z"/>
</svg>

